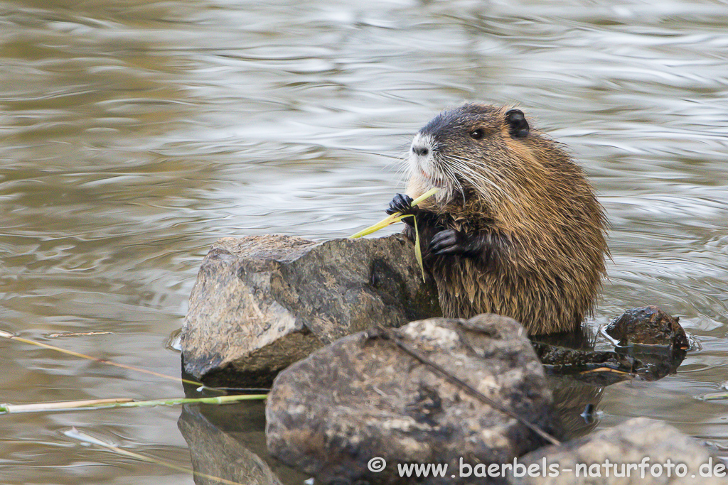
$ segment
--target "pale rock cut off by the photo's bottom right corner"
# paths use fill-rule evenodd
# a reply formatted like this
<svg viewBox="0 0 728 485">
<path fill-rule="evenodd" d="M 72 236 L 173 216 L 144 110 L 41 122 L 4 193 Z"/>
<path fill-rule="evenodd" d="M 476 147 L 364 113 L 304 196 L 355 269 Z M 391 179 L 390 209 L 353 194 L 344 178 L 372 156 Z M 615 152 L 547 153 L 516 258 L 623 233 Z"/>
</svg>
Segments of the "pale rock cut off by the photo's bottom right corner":
<svg viewBox="0 0 728 485">
<path fill-rule="evenodd" d="M 641 468 L 628 468 L 628 465 L 639 465 L 645 459 L 647 465 L 644 478 L 641 475 Z M 693 438 L 685 436 L 664 422 L 644 417 L 634 418 L 615 428 L 601 430 L 561 446 L 547 446 L 526 454 L 519 462 L 525 465 L 526 470 L 529 465 L 538 465 L 539 471 L 538 474 L 534 473 L 537 476 L 529 476 L 528 471 L 523 477 L 511 474 L 512 484 L 717 485 L 725 484 L 725 477 L 728 476 L 721 460 L 711 455 L 708 449 L 700 446 Z M 546 476 L 542 476 L 544 463 L 547 466 Z M 606 465 L 607 463 L 609 465 Z M 670 463 L 672 468 L 668 476 L 668 468 L 664 465 L 670 467 Z M 682 466 L 678 468 L 678 464 L 684 465 L 684 468 Z M 615 476 L 614 467 L 617 467 L 617 475 L 622 475 L 622 465 L 625 476 Z M 559 472 L 558 476 L 550 476 L 552 471 L 550 466 L 555 467 Z M 653 467 L 654 475 L 657 475 L 659 468 L 660 476 L 653 476 Z M 712 477 L 706 476 L 708 468 L 711 468 Z M 606 473 L 607 469 L 609 475 Z M 535 472 L 536 468 L 533 470 Z M 577 476 L 577 470 L 580 470 L 580 476 Z M 628 470 L 630 476 L 626 476 Z M 722 478 L 716 476 L 716 471 L 724 473 Z M 683 472 L 684 476 L 678 476 Z"/>
</svg>

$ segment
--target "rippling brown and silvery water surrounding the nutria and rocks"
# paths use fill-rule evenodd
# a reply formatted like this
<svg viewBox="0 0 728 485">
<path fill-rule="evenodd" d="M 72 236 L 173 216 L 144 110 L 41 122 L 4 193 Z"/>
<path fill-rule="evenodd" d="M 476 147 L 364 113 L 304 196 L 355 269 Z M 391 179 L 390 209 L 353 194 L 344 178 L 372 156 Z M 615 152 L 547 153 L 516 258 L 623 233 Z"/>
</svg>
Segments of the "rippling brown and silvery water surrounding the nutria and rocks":
<svg viewBox="0 0 728 485">
<path fill-rule="evenodd" d="M 595 324 L 655 304 L 695 343 L 677 374 L 607 388 L 599 426 L 654 417 L 727 454 L 728 401 L 695 396 L 728 386 L 728 4 L 612 4 L 0 1 L 0 329 L 178 375 L 210 243 L 346 236 L 434 113 L 518 102 L 612 221 Z M 182 395 L 7 340 L 0 373 L 0 402 Z M 179 415 L 2 416 L 0 482 L 191 484 L 63 434 L 189 466 Z"/>
</svg>

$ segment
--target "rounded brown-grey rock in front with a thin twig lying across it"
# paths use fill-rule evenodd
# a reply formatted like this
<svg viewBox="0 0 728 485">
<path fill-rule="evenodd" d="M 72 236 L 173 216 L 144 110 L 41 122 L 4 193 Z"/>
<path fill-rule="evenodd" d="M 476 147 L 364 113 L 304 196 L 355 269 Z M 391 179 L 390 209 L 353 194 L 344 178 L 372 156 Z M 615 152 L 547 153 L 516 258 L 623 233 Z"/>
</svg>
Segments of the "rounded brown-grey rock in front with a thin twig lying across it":
<svg viewBox="0 0 728 485">
<path fill-rule="evenodd" d="M 392 332 L 506 409 L 547 431 L 555 426 L 542 366 L 515 320 L 430 318 Z M 397 464 L 408 463 L 454 470 L 424 483 L 469 483 L 451 477 L 460 457 L 512 462 L 544 443 L 376 332 L 344 337 L 281 372 L 266 420 L 270 452 L 317 484 L 411 483 L 397 474 Z M 379 473 L 368 467 L 375 457 L 387 462 Z"/>
</svg>

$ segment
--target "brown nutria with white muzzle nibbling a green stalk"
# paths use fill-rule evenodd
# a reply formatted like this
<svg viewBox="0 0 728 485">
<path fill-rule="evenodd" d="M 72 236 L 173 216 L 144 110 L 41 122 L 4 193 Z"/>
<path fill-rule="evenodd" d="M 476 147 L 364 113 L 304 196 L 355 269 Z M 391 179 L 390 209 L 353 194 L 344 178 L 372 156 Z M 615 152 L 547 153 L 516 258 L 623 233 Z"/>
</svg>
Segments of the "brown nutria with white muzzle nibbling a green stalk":
<svg viewBox="0 0 728 485">
<path fill-rule="evenodd" d="M 387 212 L 416 216 L 444 316 L 498 313 L 530 334 L 578 328 L 605 273 L 606 217 L 561 144 L 518 109 L 467 104 L 425 125 L 409 162 L 406 195 Z"/>
</svg>

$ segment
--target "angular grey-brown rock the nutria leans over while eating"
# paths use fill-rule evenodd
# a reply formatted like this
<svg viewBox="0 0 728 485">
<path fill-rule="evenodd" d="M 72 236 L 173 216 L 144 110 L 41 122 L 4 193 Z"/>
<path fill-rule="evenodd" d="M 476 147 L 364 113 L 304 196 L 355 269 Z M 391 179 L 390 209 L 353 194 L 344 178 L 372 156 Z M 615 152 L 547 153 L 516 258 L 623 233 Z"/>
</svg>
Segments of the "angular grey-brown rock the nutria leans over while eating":
<svg viewBox="0 0 728 485">
<path fill-rule="evenodd" d="M 208 385 L 267 387 L 281 369 L 373 322 L 440 314 L 435 285 L 422 281 L 404 236 L 225 238 L 192 289 L 184 367 Z"/>
</svg>

